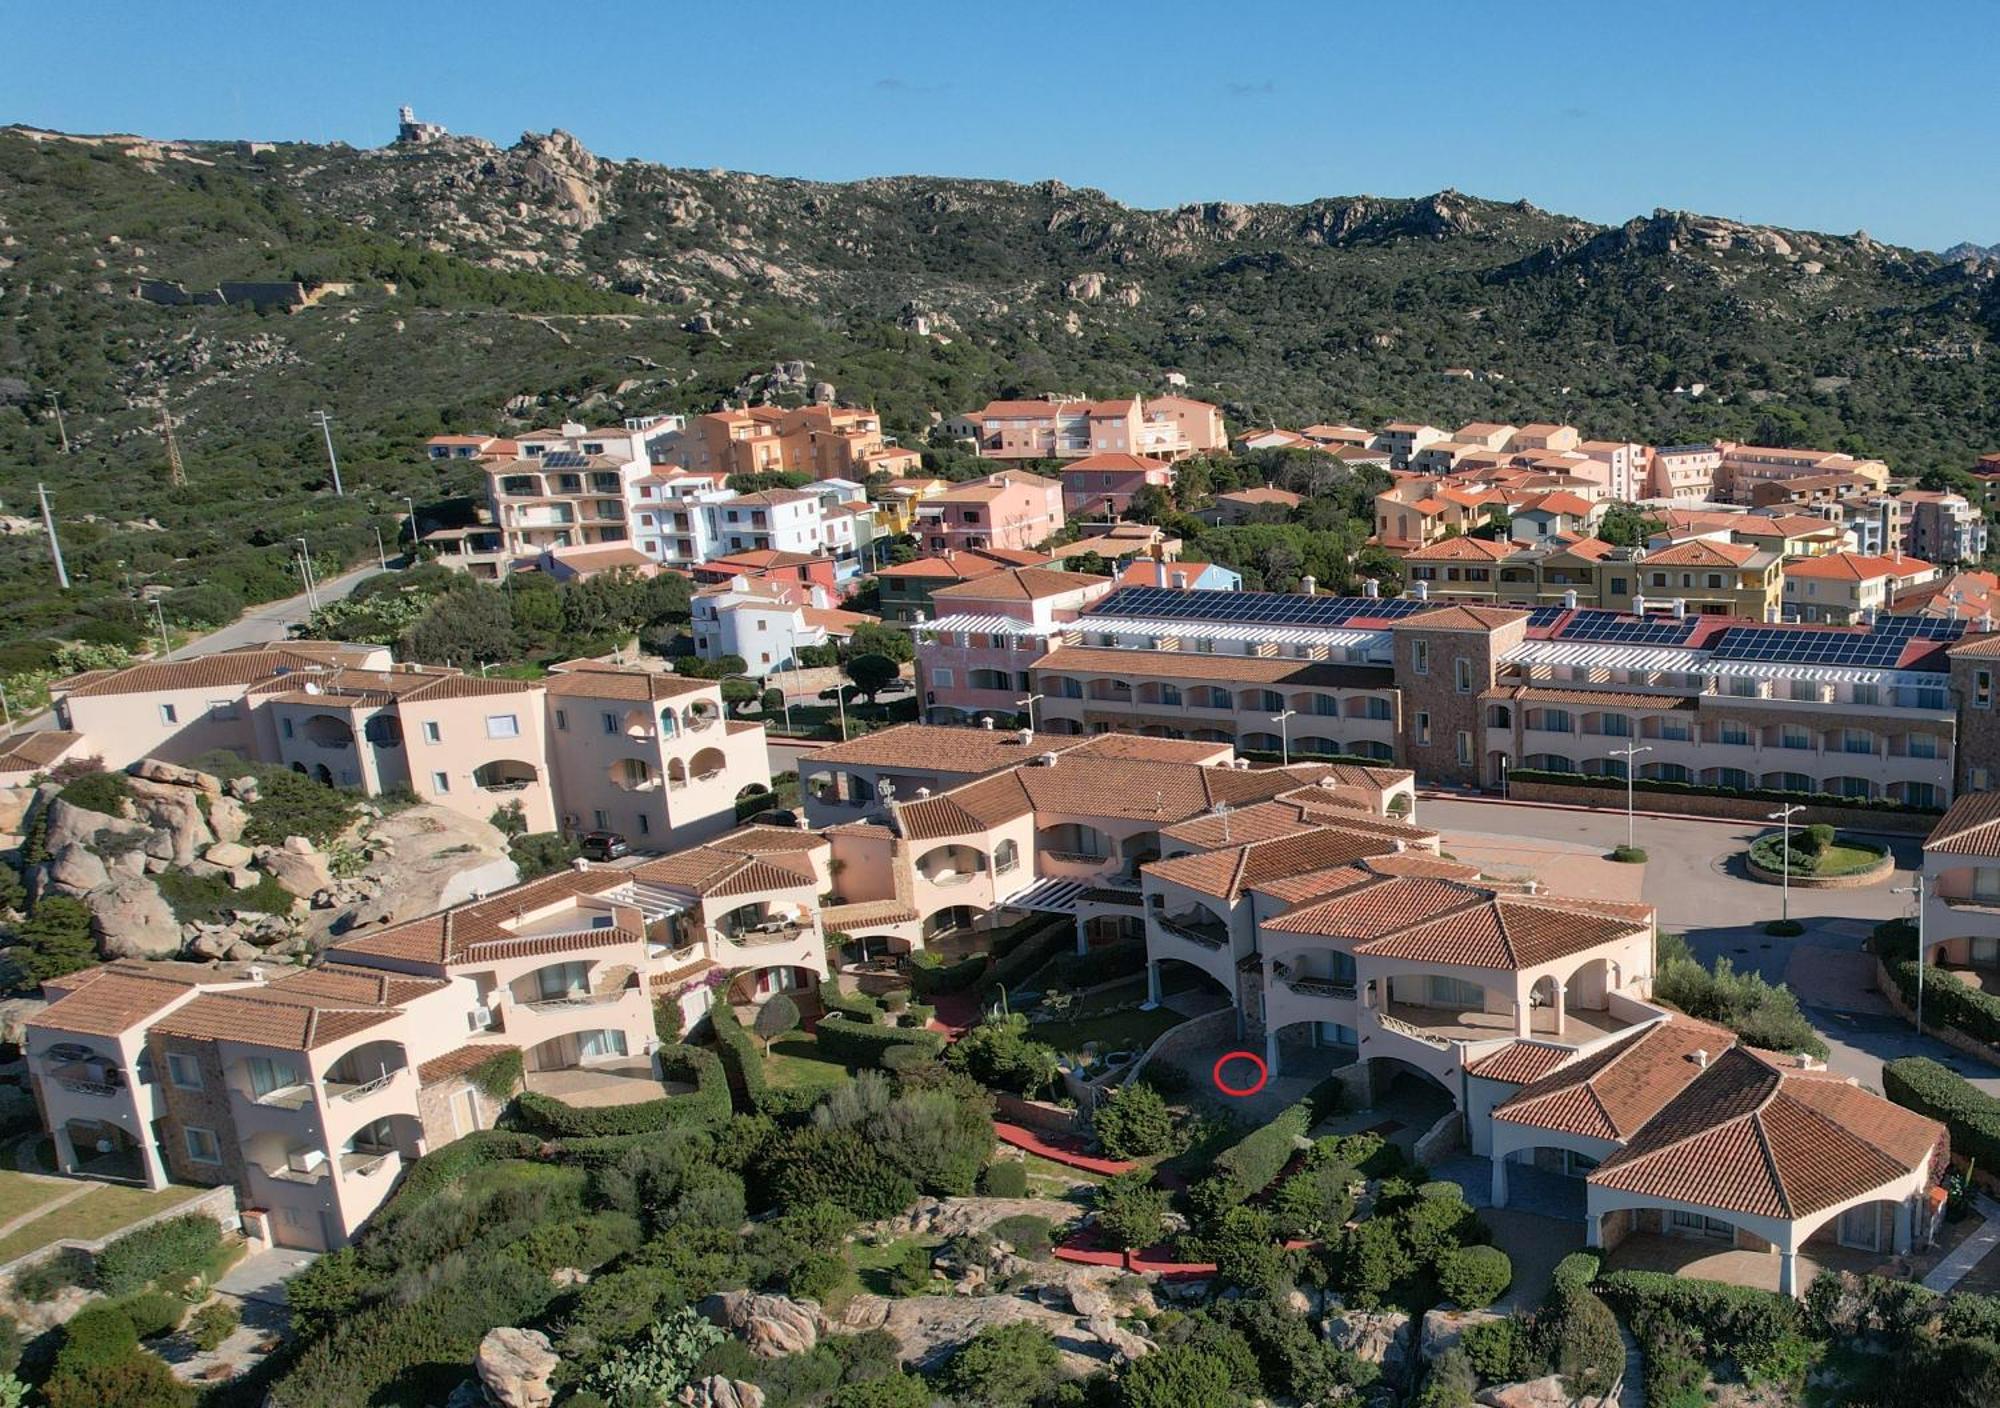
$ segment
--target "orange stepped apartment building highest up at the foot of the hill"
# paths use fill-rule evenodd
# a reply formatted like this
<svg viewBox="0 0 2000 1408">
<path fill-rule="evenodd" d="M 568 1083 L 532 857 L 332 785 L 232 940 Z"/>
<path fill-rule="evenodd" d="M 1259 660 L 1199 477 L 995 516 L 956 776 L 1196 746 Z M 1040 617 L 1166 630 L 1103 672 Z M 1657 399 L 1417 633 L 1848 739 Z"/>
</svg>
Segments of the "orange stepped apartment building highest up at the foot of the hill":
<svg viewBox="0 0 2000 1408">
<path fill-rule="evenodd" d="M 696 416 L 662 462 L 722 474 L 868 480 L 870 474 L 916 474 L 924 456 L 896 446 L 872 408 L 746 406 Z"/>
</svg>

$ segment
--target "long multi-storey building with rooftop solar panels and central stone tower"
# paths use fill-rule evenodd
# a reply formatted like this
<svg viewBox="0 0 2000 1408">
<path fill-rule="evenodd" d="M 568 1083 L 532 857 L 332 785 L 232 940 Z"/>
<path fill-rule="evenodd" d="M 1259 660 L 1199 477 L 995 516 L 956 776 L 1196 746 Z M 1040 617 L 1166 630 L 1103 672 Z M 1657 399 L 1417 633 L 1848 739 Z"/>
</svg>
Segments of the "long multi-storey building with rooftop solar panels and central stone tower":
<svg viewBox="0 0 2000 1408">
<path fill-rule="evenodd" d="M 1356 756 L 1462 786 L 1618 776 L 1612 750 L 1638 742 L 1644 778 L 1944 806 L 2000 756 L 2000 738 L 1960 748 L 1986 718 L 1946 656 L 1966 622 L 1770 626 L 1644 592 L 1632 608 L 1122 588 L 1030 678 L 1046 732 Z"/>
</svg>

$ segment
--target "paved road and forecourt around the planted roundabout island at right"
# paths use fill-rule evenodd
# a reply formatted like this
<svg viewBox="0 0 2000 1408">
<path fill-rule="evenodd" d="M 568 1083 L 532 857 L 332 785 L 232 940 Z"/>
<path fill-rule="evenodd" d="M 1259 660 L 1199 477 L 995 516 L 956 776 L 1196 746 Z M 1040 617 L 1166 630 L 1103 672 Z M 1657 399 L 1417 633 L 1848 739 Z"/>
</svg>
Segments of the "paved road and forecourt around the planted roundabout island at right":
<svg viewBox="0 0 2000 1408">
<path fill-rule="evenodd" d="M 1600 856 L 1624 842 L 1622 812 L 1572 812 L 1504 802 L 1422 798 L 1416 816 L 1468 842 L 1540 838 L 1552 858 L 1542 872 L 1560 876 L 1560 856 Z M 1762 826 L 1708 822 L 1680 816 L 1640 816 L 1636 840 L 1648 862 L 1642 898 L 1660 910 L 1660 928 L 1680 932 L 1696 958 L 1728 958 L 1740 972 L 1756 970 L 1784 982 L 1800 1008 L 1826 1038 L 1828 1068 L 1866 1086 L 1882 1086 L 1882 1062 L 1930 1056 L 1980 1088 L 2000 1096 L 2000 1068 L 1964 1056 L 1952 1046 L 1920 1038 L 1898 1018 L 1874 986 L 1874 960 L 1862 944 L 1876 924 L 1910 914 L 1910 896 L 1896 888 L 1910 882 L 1922 858 L 1916 838 L 1888 840 L 1896 874 L 1866 890 L 1794 890 L 1792 918 L 1804 922 L 1798 938 L 1770 938 L 1764 924 L 1778 918 L 1780 892 L 1744 878 L 1736 860 Z"/>
</svg>

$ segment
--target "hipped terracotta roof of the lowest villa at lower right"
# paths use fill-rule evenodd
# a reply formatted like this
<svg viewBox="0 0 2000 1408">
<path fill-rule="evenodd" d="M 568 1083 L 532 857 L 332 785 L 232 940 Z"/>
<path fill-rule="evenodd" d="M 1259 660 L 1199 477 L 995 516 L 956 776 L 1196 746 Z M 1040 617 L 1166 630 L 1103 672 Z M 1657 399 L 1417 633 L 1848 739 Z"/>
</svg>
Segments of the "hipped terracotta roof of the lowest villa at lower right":
<svg viewBox="0 0 2000 1408">
<path fill-rule="evenodd" d="M 1944 1126 L 1742 1048 L 1708 1064 L 1590 1174 L 1602 1188 L 1796 1220 L 1922 1170 Z"/>
</svg>

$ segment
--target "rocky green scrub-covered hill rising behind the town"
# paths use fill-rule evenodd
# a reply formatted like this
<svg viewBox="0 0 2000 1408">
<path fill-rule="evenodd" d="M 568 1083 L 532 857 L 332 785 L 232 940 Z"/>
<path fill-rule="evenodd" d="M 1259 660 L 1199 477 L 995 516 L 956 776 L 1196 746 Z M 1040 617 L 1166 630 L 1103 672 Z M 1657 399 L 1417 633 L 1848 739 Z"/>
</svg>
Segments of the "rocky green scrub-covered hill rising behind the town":
<svg viewBox="0 0 2000 1408">
<path fill-rule="evenodd" d="M 94 516 L 62 600 L 32 522 L 0 520 L 20 636 L 132 630 L 146 584 L 270 596 L 296 532 L 372 554 L 402 494 L 470 488 L 410 452 L 436 430 L 818 380 L 906 440 L 994 394 L 1150 392 L 1174 370 L 1250 424 L 1566 416 L 1908 470 L 2000 446 L 2000 264 L 1682 212 L 1608 228 L 1450 190 L 1134 210 L 1056 182 L 610 162 L 564 132 L 356 150 L 8 130 L 0 220 L 0 500 L 22 514 L 48 480 Z M 292 278 L 338 288 L 290 316 L 134 296 Z"/>
</svg>

